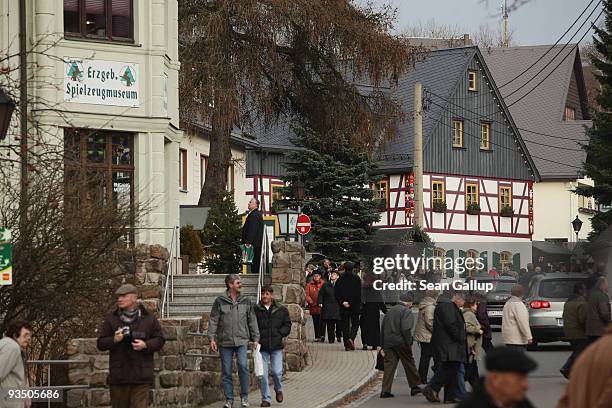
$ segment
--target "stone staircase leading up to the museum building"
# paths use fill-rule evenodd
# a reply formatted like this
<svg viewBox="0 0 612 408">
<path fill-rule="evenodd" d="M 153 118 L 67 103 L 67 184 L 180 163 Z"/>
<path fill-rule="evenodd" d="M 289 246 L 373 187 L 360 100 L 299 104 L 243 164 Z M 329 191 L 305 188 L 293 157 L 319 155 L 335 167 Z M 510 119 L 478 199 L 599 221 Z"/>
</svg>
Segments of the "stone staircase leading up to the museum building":
<svg viewBox="0 0 612 408">
<path fill-rule="evenodd" d="M 257 299 L 256 274 L 240 275 L 242 294 Z M 215 298 L 225 292 L 225 275 L 174 275 L 174 299 L 170 318 L 200 318 L 210 312 Z"/>
</svg>

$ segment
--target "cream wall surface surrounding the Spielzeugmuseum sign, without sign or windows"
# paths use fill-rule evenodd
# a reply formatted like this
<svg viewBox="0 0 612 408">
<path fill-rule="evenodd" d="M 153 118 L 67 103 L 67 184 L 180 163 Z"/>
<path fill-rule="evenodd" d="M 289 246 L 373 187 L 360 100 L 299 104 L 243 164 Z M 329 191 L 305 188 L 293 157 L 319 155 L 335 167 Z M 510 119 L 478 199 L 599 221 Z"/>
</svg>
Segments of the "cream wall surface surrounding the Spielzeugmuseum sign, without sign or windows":
<svg viewBox="0 0 612 408">
<path fill-rule="evenodd" d="M 28 100 L 31 109 L 43 109 L 33 116 L 46 126 L 50 143 L 62 144 L 62 129 L 70 127 L 132 132 L 135 200 L 152 207 L 138 225 L 147 229 L 139 230 L 136 239 L 169 245 L 172 232 L 163 228 L 179 223 L 178 4 L 134 0 L 131 44 L 64 38 L 63 8 L 59 0 L 27 1 L 28 47 L 44 50 L 30 55 Z M 18 17 L 18 0 L 0 2 L 0 59 L 18 50 Z M 66 58 L 138 64 L 138 106 L 64 101 Z M 18 65 L 17 57 L 7 64 Z"/>
</svg>

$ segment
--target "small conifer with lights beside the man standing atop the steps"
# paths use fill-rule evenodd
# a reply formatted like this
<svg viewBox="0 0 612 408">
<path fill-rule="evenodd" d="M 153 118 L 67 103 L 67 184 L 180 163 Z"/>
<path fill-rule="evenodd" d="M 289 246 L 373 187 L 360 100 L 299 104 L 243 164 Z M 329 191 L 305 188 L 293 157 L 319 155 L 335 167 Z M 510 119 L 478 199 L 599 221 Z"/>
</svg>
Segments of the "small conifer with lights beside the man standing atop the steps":
<svg viewBox="0 0 612 408">
<path fill-rule="evenodd" d="M 202 230 L 207 249 L 204 269 L 210 273 L 240 272 L 242 220 L 232 193 L 226 193 L 220 204 L 211 207 Z"/>
</svg>

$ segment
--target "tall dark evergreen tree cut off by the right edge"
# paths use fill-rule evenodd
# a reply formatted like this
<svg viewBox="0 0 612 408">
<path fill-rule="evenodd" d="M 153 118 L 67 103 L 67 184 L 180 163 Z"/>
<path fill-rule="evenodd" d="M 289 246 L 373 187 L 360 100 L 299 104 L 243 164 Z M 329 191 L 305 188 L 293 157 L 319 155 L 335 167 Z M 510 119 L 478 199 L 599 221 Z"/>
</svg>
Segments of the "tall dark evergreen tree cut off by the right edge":
<svg viewBox="0 0 612 408">
<path fill-rule="evenodd" d="M 612 1 L 603 2 L 605 24 L 595 28 L 592 63 L 599 71 L 596 75 L 601 84 L 601 93 L 597 102 L 601 109 L 593 112 L 593 127 L 589 129 L 589 144 L 585 146 L 587 176 L 593 179 L 594 187 L 580 187 L 576 192 L 595 197 L 604 206 L 612 205 Z M 599 213 L 591 220 L 594 239 L 612 225 L 612 211 Z"/>
</svg>

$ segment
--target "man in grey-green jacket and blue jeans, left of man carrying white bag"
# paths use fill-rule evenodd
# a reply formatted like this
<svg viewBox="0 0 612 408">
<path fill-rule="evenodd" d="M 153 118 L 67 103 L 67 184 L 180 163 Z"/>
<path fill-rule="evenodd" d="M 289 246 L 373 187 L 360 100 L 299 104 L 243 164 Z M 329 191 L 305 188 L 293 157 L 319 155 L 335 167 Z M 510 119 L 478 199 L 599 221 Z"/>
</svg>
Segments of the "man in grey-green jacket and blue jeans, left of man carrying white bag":
<svg viewBox="0 0 612 408">
<path fill-rule="evenodd" d="M 253 342 L 253 350 L 259 344 L 259 328 L 251 299 L 240 294 L 240 275 L 231 273 L 225 277 L 227 292 L 213 303 L 208 323 L 210 349 L 221 353 L 221 381 L 225 394 L 223 408 L 234 406 L 234 382 L 232 359 L 236 355 L 240 378 L 240 406 L 249 406 L 249 366 L 247 345 Z"/>
</svg>

